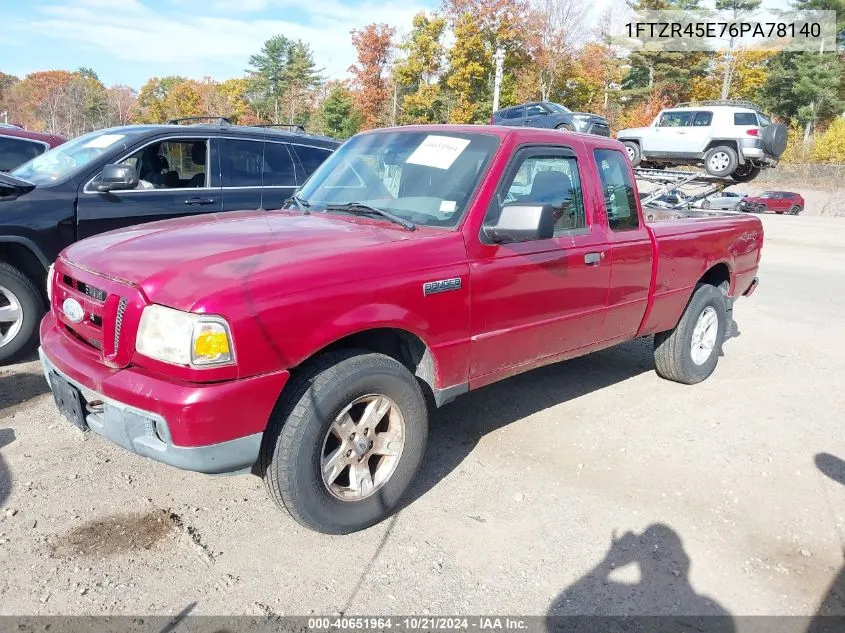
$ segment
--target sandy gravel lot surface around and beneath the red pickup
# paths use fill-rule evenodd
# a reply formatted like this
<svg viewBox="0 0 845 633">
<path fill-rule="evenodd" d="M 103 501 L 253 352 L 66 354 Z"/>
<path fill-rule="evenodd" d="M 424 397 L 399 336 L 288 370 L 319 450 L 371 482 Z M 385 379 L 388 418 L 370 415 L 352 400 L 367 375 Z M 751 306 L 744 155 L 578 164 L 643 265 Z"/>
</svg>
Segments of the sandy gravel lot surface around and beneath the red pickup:
<svg viewBox="0 0 845 633">
<path fill-rule="evenodd" d="M 347 537 L 255 477 L 83 435 L 36 362 L 0 370 L 0 614 L 845 613 L 845 220 L 764 223 L 710 380 L 659 379 L 645 340 L 469 394 L 410 503 Z"/>
</svg>

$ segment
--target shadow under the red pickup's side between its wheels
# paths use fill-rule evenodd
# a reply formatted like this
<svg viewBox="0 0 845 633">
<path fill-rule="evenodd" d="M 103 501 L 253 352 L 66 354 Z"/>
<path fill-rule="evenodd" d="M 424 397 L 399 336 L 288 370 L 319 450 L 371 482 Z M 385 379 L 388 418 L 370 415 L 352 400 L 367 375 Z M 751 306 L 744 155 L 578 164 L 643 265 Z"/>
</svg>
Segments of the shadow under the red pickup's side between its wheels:
<svg viewBox="0 0 845 633">
<path fill-rule="evenodd" d="M 654 370 L 653 349 L 650 337 L 638 339 L 471 391 L 433 411 L 423 465 L 403 506 L 460 466 L 488 433 Z"/>
</svg>

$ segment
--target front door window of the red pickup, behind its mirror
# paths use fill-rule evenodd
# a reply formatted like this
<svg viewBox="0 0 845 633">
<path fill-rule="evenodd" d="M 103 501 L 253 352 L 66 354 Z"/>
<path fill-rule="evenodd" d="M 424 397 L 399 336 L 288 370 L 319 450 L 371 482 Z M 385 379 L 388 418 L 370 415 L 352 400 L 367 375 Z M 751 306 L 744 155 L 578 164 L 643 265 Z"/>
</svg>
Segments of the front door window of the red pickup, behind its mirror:
<svg viewBox="0 0 845 633">
<path fill-rule="evenodd" d="M 555 213 L 555 235 L 586 227 L 584 195 L 578 161 L 574 156 L 526 156 L 500 196 L 508 202 L 550 204 Z"/>
</svg>

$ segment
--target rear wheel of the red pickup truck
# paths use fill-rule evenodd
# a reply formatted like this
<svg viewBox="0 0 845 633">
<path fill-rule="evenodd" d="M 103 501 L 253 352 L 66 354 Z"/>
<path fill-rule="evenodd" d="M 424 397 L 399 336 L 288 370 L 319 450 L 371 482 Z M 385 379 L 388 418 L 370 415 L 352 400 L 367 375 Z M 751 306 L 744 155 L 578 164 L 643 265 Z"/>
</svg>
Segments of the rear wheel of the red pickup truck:
<svg viewBox="0 0 845 633">
<path fill-rule="evenodd" d="M 685 385 L 705 380 L 719 362 L 727 324 L 724 292 L 699 285 L 674 329 L 654 335 L 657 374 Z"/>
</svg>

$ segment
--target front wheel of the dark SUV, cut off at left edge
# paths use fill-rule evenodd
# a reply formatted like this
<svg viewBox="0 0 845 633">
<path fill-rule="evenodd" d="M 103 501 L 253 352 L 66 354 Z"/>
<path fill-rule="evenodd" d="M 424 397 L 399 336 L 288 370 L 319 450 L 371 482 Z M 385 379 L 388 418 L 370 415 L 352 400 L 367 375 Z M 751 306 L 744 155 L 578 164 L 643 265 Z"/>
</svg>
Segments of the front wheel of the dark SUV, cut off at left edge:
<svg viewBox="0 0 845 633">
<path fill-rule="evenodd" d="M 35 349 L 44 301 L 35 285 L 14 266 L 0 263 L 0 364 Z"/>
</svg>

